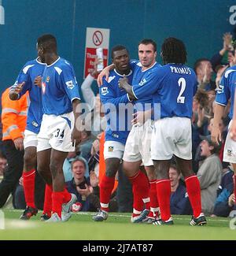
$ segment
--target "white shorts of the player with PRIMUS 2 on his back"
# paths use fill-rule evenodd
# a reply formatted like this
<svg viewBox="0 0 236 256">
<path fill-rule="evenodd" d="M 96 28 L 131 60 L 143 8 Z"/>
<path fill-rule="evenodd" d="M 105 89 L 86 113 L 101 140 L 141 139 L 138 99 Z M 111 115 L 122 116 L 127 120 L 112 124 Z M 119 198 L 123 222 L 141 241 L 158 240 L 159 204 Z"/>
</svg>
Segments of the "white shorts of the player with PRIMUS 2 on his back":
<svg viewBox="0 0 236 256">
<path fill-rule="evenodd" d="M 169 160 L 175 154 L 192 159 L 192 129 L 190 118 L 167 117 L 155 121 L 151 156 L 153 160 Z"/>
</svg>

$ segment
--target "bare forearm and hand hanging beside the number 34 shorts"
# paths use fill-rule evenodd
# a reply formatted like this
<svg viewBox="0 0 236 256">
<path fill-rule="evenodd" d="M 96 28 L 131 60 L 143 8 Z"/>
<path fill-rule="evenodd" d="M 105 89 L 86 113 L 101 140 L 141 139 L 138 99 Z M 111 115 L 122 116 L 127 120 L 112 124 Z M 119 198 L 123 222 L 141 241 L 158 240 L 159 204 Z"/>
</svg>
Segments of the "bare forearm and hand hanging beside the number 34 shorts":
<svg viewBox="0 0 236 256">
<path fill-rule="evenodd" d="M 74 128 L 72 131 L 72 143 L 76 142 L 76 145 L 78 145 L 81 142 L 81 125 L 82 122 L 79 118 L 81 114 L 81 109 L 80 109 L 80 100 L 78 98 L 75 98 L 72 102 L 73 105 L 73 113 L 75 117 L 75 124 Z"/>
</svg>

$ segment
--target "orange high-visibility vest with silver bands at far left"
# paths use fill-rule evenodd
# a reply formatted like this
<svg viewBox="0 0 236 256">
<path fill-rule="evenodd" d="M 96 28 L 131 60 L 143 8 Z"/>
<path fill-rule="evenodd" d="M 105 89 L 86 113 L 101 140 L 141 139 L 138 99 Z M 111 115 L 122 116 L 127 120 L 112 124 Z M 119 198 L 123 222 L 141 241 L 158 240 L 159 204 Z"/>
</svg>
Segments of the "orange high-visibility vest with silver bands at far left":
<svg viewBox="0 0 236 256">
<path fill-rule="evenodd" d="M 30 103 L 28 92 L 13 101 L 9 98 L 9 89 L 2 93 L 2 140 L 24 137 Z"/>
</svg>

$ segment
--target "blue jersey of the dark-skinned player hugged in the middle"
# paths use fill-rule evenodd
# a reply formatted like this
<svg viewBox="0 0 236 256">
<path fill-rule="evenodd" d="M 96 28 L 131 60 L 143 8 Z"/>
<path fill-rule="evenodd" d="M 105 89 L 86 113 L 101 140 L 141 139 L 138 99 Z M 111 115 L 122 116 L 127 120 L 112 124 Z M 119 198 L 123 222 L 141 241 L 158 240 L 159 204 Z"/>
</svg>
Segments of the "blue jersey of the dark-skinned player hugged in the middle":
<svg viewBox="0 0 236 256">
<path fill-rule="evenodd" d="M 129 101 L 127 92 L 118 86 L 118 81 L 122 77 L 122 75 L 116 72 L 116 69 L 112 70 L 109 73 L 108 82 L 103 78 L 99 94 L 107 118 L 105 141 L 112 140 L 125 144 L 131 130 L 133 105 Z M 127 75 L 128 83 L 131 83 L 132 77 L 132 72 L 130 72 Z M 127 105 L 127 103 L 129 104 Z"/>
</svg>

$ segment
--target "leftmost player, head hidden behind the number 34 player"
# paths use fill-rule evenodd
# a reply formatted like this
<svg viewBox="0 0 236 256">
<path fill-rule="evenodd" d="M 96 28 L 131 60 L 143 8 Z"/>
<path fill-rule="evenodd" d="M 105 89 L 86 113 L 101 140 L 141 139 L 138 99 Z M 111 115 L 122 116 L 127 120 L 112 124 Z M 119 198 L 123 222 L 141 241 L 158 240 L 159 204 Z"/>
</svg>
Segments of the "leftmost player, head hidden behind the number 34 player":
<svg viewBox="0 0 236 256">
<path fill-rule="evenodd" d="M 28 61 L 20 70 L 16 83 L 14 83 L 9 91 L 9 98 L 12 100 L 17 100 L 27 91 L 29 92 L 30 98 L 27 126 L 24 131 L 23 186 L 27 208 L 20 216 L 20 219 L 22 220 L 28 220 L 38 212 L 35 207 L 35 166 L 37 165 L 37 135 L 42 122 L 42 95 L 41 88 L 37 83 L 45 68 L 46 64 L 42 63 L 39 58 L 36 58 L 33 61 Z M 46 195 L 48 189 L 49 187 L 46 186 Z M 48 199 L 49 201 L 51 201 L 51 199 L 46 195 L 44 206 L 51 205 L 50 202 L 48 203 Z M 49 216 L 50 210 L 47 210 L 46 207 L 44 207 L 41 219 L 46 220 Z"/>
</svg>

